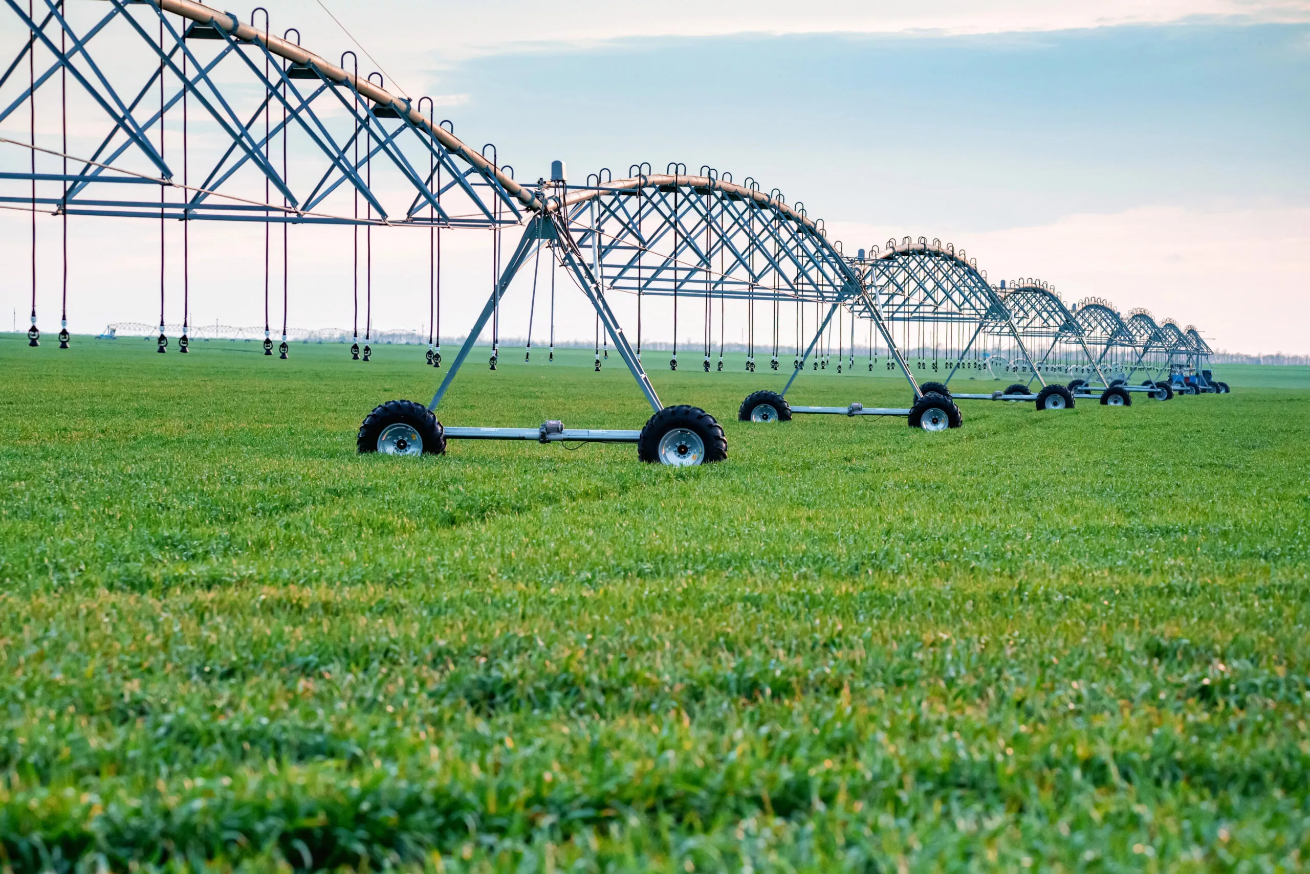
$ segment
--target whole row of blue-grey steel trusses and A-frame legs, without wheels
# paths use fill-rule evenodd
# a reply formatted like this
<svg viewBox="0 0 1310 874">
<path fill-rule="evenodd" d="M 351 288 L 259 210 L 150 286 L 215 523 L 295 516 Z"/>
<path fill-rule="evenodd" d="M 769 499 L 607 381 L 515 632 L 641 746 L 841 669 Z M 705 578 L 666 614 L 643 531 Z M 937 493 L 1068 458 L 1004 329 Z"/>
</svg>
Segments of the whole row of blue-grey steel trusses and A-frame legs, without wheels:
<svg viewBox="0 0 1310 874">
<path fill-rule="evenodd" d="M 29 110 L 30 140 L 8 144 L 29 149 L 31 160 L 26 171 L 0 171 L 0 203 L 64 216 L 183 222 L 524 228 L 508 263 L 502 266 L 496 255 L 491 296 L 430 410 L 438 407 L 519 270 L 542 250 L 587 296 L 656 411 L 662 403 L 643 369 L 639 344 L 631 347 L 610 307 L 616 293 L 638 301 L 672 298 L 675 313 L 680 300 L 702 301 L 707 326 L 715 298 L 720 307 L 723 301 L 747 301 L 752 318 L 756 302 L 770 305 L 773 369 L 778 369 L 778 305 L 794 304 L 798 314 L 802 305 L 814 305 L 814 336 L 803 352 L 798 341 L 783 394 L 842 309 L 852 314 L 852 330 L 857 315 L 872 321 L 916 398 L 922 393 L 893 336 L 895 323 L 969 332 L 947 381 L 982 336 L 1011 338 L 1043 385 L 1044 370 L 1065 366 L 1047 364 L 1060 344 L 1081 347 L 1103 383 L 1100 364 L 1114 349 L 1136 349 L 1138 364 L 1155 349 L 1169 362 L 1176 355 L 1199 362 L 1209 352 L 1195 330 L 1184 334 L 1171 322 L 1151 321 L 1144 336 L 1146 326 L 1125 323 L 1099 304 L 1074 318 L 1040 283 L 1009 289 L 1002 283 L 994 289 L 963 250 L 935 239 L 907 237 L 900 245 L 889 241 L 886 251 L 875 247 L 871 255 L 846 258 L 802 204 L 787 204 L 778 190 L 764 194 L 749 178 L 736 183 L 710 167 L 692 175 L 685 165 L 669 165 L 664 174 L 654 174 L 650 165 L 635 165 L 630 178 L 616 181 L 603 171 L 586 186 L 569 186 L 561 173 L 549 183 L 525 187 L 514 179 L 512 167 L 499 164 L 494 147 L 476 150 L 455 136 L 448 122 L 436 123 L 431 101 L 424 114 L 427 98 L 393 94 L 377 73 L 360 77 L 358 60 L 347 68 L 352 52 L 333 64 L 303 48 L 295 29 L 272 34 L 267 13 L 259 27 L 257 21 L 242 22 L 190 0 L 109 0 L 77 8 L 76 14 L 63 0 L 29 0 L 26 9 L 18 0 L 4 3 L 30 38 L 0 73 L 0 123 Z M 135 47 L 126 60 L 124 46 Z M 81 156 L 68 153 L 67 140 L 58 150 L 38 145 L 41 93 L 58 94 L 66 131 L 71 97 L 83 131 L 88 120 L 101 118 L 98 145 Z M 189 133 L 204 140 L 194 164 Z M 37 173 L 38 153 L 46 153 L 46 162 L 50 156 L 62 161 L 62 171 Z M 293 164 L 288 153 L 295 154 Z M 33 326 L 35 331 L 35 311 Z M 1034 356 L 1028 348 L 1036 339 L 1051 343 Z M 1099 356 L 1089 340 L 1100 347 Z M 160 344 L 162 351 L 162 328 Z M 676 360 L 675 331 L 675 369 Z M 706 348 L 702 366 L 709 370 L 710 364 Z M 752 353 L 748 368 L 753 365 Z"/>
</svg>

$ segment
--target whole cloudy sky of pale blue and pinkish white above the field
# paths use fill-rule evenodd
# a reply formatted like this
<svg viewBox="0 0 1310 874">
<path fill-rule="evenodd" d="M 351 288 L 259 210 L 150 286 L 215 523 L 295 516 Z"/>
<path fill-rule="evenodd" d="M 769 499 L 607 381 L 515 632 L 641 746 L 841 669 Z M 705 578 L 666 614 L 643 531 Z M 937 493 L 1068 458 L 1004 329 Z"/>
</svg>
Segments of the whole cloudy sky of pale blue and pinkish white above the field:
<svg viewBox="0 0 1310 874">
<path fill-rule="evenodd" d="M 274 29 L 329 58 L 358 43 L 362 67 L 434 96 L 520 179 L 554 158 L 578 181 L 709 165 L 803 200 L 848 251 L 937 237 L 992 279 L 1146 306 L 1217 349 L 1310 353 L 1310 1 L 324 4 L 275 3 Z M 24 221 L 0 218 L 8 263 L 29 256 Z M 157 256 L 123 242 L 148 239 L 144 222 L 79 224 L 71 328 L 153 321 Z M 195 321 L 262 322 L 262 232 L 193 234 Z M 347 234 L 292 232 L 292 324 L 350 326 Z M 42 263 L 58 258 L 39 236 Z M 419 327 L 426 239 L 376 245 L 375 324 Z M 443 334 L 462 334 L 489 290 L 486 239 L 447 245 Z M 45 311 L 56 279 L 42 271 Z M 0 287 L 20 327 L 28 283 Z M 507 334 L 525 332 L 528 293 L 507 301 Z M 562 305 L 561 336 L 591 335 L 579 306 Z"/>
</svg>

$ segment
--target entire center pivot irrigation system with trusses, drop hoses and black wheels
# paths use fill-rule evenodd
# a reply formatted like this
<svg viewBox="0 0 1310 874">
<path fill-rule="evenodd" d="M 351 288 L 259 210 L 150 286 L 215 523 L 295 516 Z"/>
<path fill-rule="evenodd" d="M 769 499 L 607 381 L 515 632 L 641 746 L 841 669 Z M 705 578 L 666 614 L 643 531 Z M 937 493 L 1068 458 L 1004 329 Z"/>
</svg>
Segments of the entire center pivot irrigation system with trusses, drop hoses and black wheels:
<svg viewBox="0 0 1310 874">
<path fill-rule="evenodd" d="M 393 93 L 394 86 L 389 90 L 376 72 L 360 76 L 351 51 L 337 63 L 308 51 L 295 27 L 276 35 L 262 7 L 241 21 L 189 0 L 109 0 L 76 8 L 64 0 L 4 4 L 25 38 L 0 73 L 0 126 L 8 131 L 0 135 L 5 156 L 0 207 L 31 213 L 30 345 L 41 340 L 39 213 L 60 225 L 60 348 L 69 347 L 69 218 L 157 222 L 160 353 L 170 343 L 165 321 L 170 263 L 182 280 L 177 348 L 183 353 L 190 348 L 190 224 L 259 222 L 263 351 L 274 352 L 280 296 L 280 358 L 290 352 L 291 226 L 351 229 L 351 358 L 356 361 L 369 360 L 375 340 L 373 233 L 418 229 L 428 242 L 426 361 L 435 368 L 443 365 L 441 236 L 490 233 L 490 296 L 440 387 L 427 404 L 393 400 L 375 408 L 358 436 L 364 453 L 443 453 L 452 438 L 597 441 L 634 442 L 647 462 L 722 461 L 727 442 L 718 421 L 698 407 L 665 407 L 651 385 L 642 351 L 650 307 L 659 318 L 672 314 L 672 349 L 658 352 L 662 368 L 668 353 L 671 370 L 680 366 L 680 318 L 698 321 L 703 336 L 702 348 L 690 355 L 681 349 L 681 366 L 700 365 L 706 373 L 723 370 L 730 307 L 744 314 L 748 326 L 751 373 L 757 370 L 757 321 L 766 326 L 758 343 L 761 370 L 768 352 L 769 370 L 790 373 L 778 373 L 779 381 L 786 376 L 779 390 L 752 393 L 741 403 L 738 415 L 745 421 L 789 420 L 796 413 L 903 416 L 912 428 L 945 430 L 962 423 L 958 399 L 1031 400 L 1038 410 L 1061 410 L 1073 407 L 1076 398 L 1093 396 L 1107 406 L 1128 406 L 1131 391 L 1167 399 L 1178 390 L 1227 390 L 1210 378 L 1210 349 L 1192 327 L 1157 322 L 1145 310 L 1124 319 L 1093 298 L 1069 310 L 1053 289 L 1034 280 L 993 287 L 975 259 L 935 239 L 907 237 L 886 249 L 845 255 L 803 204 L 789 204 L 777 188 L 766 194 L 751 178 L 735 182 L 707 166 L 692 174 L 681 164 L 654 173 L 641 164 L 629 167 L 627 178 L 614 179 L 603 170 L 586 184 L 570 184 L 565 165 L 555 161 L 549 179 L 520 183 L 494 145 L 472 148 L 455 136 L 451 122 L 436 122 L 432 99 Z M 24 122 L 25 136 L 14 135 Z M 56 126 L 58 135 L 51 135 Z M 81 144 L 73 148 L 71 126 Z M 517 239 L 506 259 L 507 232 Z M 650 403 L 654 415 L 643 428 L 571 429 L 559 421 L 468 428 L 438 421 L 443 396 L 489 326 L 489 366 L 498 368 L 502 306 L 511 283 L 529 266 L 533 294 L 525 358 L 531 358 L 542 256 L 549 259 L 552 338 L 558 268 L 595 311 L 595 369 L 601 369 L 612 347 Z M 629 326 L 635 321 L 633 339 L 620 310 Z M 866 336 L 869 370 L 900 372 L 910 387 L 908 407 L 790 404 L 787 394 L 807 364 L 811 370 L 832 366 L 836 340 L 836 370 L 853 372 L 857 340 Z M 654 349 L 647 345 L 648 360 Z M 553 339 L 549 360 L 554 360 Z M 1005 391 L 952 395 L 950 382 L 962 370 L 1015 381 Z M 1055 374 L 1086 378 L 1064 386 L 1049 379 Z M 1144 383 L 1129 385 L 1138 374 Z"/>
</svg>

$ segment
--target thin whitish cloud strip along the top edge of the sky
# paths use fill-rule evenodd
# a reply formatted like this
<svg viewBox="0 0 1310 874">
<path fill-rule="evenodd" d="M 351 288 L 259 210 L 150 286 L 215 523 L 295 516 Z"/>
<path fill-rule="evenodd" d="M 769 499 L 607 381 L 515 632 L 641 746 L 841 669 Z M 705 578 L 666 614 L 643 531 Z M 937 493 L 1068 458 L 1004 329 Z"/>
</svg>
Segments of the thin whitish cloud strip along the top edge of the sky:
<svg viewBox="0 0 1310 874">
<path fill-rule="evenodd" d="M 414 26 L 410 0 L 324 0 L 331 16 L 359 39 L 380 63 L 402 80 L 481 55 L 532 50 L 562 50 L 617 39 L 723 37 L 736 34 L 895 34 L 931 33 L 973 35 L 1049 31 L 1120 25 L 1150 25 L 1197 18 L 1243 22 L 1307 22 L 1310 0 L 838 0 L 796 4 L 793 0 L 665 0 L 655 4 L 613 4 L 572 0 L 555 4 L 499 0 L 482 4 L 438 4 L 424 9 Z M 305 44 L 335 46 L 341 29 L 320 0 L 280 4 L 284 24 L 305 31 Z M 428 26 L 426 22 L 431 22 Z M 422 60 L 419 60 L 422 59 Z"/>
</svg>

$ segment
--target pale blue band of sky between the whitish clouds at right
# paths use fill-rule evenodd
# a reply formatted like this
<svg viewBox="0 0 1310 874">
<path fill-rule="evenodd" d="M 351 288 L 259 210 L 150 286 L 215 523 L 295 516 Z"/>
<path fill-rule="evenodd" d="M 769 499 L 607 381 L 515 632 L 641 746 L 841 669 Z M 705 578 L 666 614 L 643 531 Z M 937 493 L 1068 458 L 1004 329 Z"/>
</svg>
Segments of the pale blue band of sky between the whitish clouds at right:
<svg viewBox="0 0 1310 874">
<path fill-rule="evenodd" d="M 1310 200 L 1310 26 L 621 39 L 477 58 L 460 133 L 520 175 L 711 164 L 828 221 L 993 230 Z"/>
</svg>

